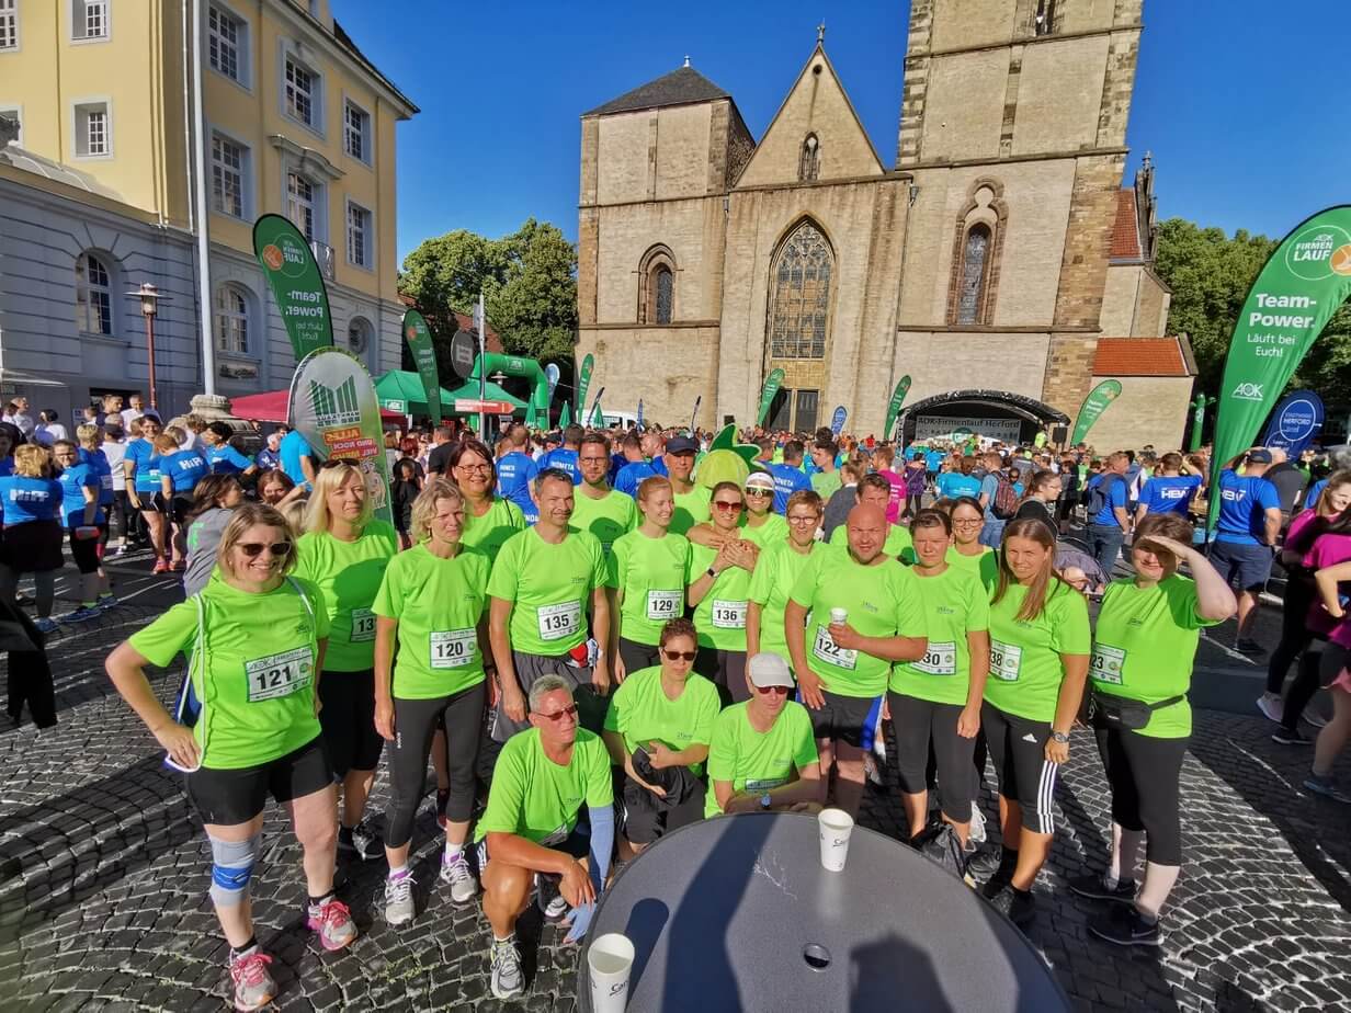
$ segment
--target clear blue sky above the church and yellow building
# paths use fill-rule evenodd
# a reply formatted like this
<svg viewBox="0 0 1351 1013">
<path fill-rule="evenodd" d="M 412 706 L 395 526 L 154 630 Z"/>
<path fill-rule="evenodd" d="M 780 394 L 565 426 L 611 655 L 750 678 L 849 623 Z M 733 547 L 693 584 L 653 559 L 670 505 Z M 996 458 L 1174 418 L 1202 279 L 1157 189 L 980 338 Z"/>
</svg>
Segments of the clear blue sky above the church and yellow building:
<svg viewBox="0 0 1351 1013">
<path fill-rule="evenodd" d="M 399 127 L 399 254 L 534 215 L 577 236 L 580 115 L 692 65 L 759 138 L 827 22 L 825 50 L 896 162 L 902 0 L 332 0 L 420 108 Z M 1128 143 L 1154 153 L 1161 217 L 1283 235 L 1351 199 L 1351 0 L 1146 0 Z M 1340 185 L 1339 185 L 1340 184 Z"/>
</svg>

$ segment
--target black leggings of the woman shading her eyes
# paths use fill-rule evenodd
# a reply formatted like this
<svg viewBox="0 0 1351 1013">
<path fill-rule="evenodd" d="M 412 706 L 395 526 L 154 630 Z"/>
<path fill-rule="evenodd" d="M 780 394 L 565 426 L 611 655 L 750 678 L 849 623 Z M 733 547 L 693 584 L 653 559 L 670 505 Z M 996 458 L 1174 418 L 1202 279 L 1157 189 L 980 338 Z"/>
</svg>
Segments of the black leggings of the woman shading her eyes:
<svg viewBox="0 0 1351 1013">
<path fill-rule="evenodd" d="M 1144 856 L 1182 864 L 1179 786 L 1188 739 L 1156 739 L 1128 728 L 1098 728 L 1098 755 L 1112 789 L 1112 821 L 1144 831 Z"/>
</svg>

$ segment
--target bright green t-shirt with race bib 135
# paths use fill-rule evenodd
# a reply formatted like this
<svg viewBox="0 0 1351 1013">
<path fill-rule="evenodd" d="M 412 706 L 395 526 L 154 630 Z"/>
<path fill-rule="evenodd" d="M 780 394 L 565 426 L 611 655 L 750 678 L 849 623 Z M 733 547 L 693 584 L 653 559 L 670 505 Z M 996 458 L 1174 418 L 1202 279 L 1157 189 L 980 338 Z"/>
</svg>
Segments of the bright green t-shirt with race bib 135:
<svg viewBox="0 0 1351 1013">
<path fill-rule="evenodd" d="M 513 651 L 558 656 L 586 640 L 592 590 L 607 579 L 605 554 L 593 535 L 569 531 L 555 546 L 527 528 L 501 547 L 488 593 L 515 605 Z"/>
</svg>

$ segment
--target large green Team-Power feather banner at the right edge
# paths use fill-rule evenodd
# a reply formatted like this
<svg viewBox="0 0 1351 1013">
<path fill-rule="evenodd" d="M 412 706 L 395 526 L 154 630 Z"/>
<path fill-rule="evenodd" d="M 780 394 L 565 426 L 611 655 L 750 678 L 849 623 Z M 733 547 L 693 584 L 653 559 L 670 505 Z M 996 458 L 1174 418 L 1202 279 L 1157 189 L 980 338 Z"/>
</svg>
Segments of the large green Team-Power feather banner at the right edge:
<svg viewBox="0 0 1351 1013">
<path fill-rule="evenodd" d="M 1243 300 L 1229 340 L 1215 416 L 1212 489 L 1233 458 L 1252 446 L 1309 346 L 1351 296 L 1351 204 L 1296 226 L 1271 251 Z M 1220 497 L 1210 497 L 1213 528 Z"/>
</svg>

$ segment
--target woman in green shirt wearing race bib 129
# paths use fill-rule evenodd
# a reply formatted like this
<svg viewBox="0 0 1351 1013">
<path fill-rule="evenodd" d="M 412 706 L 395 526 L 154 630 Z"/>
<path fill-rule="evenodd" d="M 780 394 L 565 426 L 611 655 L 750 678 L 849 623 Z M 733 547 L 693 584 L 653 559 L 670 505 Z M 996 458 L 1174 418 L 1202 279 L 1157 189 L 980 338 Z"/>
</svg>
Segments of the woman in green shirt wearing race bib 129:
<svg viewBox="0 0 1351 1013">
<path fill-rule="evenodd" d="M 670 531 L 676 494 L 669 478 L 651 475 L 638 486 L 642 523 L 615 539 L 615 679 L 661 663 L 665 623 L 685 611 L 689 540 Z"/>
</svg>

